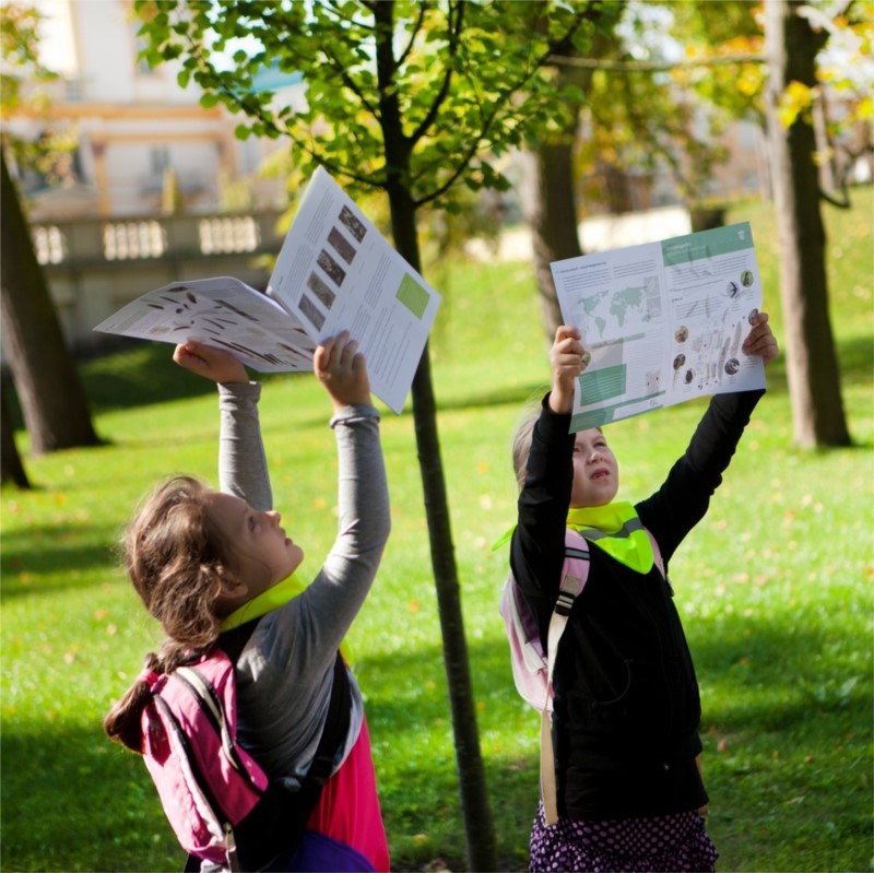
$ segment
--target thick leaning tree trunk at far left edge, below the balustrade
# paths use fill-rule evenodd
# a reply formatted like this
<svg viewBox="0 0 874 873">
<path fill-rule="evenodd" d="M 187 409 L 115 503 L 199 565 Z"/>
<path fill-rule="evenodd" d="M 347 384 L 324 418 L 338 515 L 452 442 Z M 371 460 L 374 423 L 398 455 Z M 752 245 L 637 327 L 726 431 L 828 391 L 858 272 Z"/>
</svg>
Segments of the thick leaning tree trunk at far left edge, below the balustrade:
<svg viewBox="0 0 874 873">
<path fill-rule="evenodd" d="M 99 444 L 31 232 L 0 152 L 3 350 L 35 455 Z"/>
</svg>

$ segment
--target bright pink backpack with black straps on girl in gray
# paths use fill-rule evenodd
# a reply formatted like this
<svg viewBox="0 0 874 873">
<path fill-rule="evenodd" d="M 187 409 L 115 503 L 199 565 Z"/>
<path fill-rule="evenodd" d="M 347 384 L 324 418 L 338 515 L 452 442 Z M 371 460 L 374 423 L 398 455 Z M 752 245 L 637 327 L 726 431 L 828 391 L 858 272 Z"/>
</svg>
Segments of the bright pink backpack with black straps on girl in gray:
<svg viewBox="0 0 874 873">
<path fill-rule="evenodd" d="M 237 633 L 241 632 L 241 633 Z M 236 633 L 236 637 L 231 637 Z M 234 661 L 251 628 L 229 632 L 228 652 L 140 679 L 152 699 L 142 712 L 142 754 L 164 813 L 189 853 L 186 870 L 211 861 L 223 870 L 260 870 L 303 839 L 307 818 L 333 770 L 350 724 L 350 684 L 338 652 L 324 729 L 297 791 L 268 775 L 237 742 Z"/>
</svg>

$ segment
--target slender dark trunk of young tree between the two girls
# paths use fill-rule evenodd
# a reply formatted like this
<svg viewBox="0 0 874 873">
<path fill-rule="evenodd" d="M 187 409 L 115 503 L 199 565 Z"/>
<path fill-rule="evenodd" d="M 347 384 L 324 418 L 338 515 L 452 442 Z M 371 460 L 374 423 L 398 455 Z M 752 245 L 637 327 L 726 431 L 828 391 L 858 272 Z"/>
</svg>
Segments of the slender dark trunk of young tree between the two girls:
<svg viewBox="0 0 874 873">
<path fill-rule="evenodd" d="M 393 85 L 395 61 L 392 44 L 393 4 L 374 5 L 377 24 L 376 66 L 380 82 L 380 125 L 386 145 L 388 182 L 394 248 L 421 272 L 415 204 L 409 188 L 410 143 L 404 138 L 398 90 Z M 425 516 L 428 524 L 430 561 L 440 615 L 449 704 L 456 745 L 462 815 L 466 835 L 468 868 L 497 870 L 497 852 L 492 812 L 488 805 L 485 767 L 480 752 L 476 707 L 471 682 L 461 590 L 452 544 L 449 500 L 446 495 L 440 440 L 437 433 L 437 404 L 430 378 L 427 344 L 413 378 L 413 422 L 422 474 Z"/>
</svg>

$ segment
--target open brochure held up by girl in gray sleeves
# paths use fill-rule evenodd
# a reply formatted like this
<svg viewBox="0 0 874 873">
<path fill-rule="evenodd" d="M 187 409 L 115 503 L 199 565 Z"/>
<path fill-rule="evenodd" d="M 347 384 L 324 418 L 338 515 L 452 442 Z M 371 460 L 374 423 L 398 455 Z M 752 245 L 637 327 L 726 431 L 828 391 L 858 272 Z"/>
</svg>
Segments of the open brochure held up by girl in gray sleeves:
<svg viewBox="0 0 874 873">
<path fill-rule="evenodd" d="M 439 305 L 439 294 L 319 167 L 267 294 L 229 276 L 175 282 L 94 330 L 198 340 L 260 373 L 312 369 L 317 343 L 349 330 L 367 357 L 374 393 L 400 413 Z"/>
</svg>

